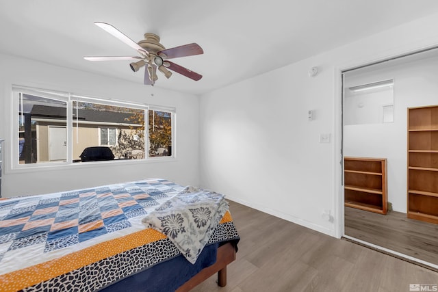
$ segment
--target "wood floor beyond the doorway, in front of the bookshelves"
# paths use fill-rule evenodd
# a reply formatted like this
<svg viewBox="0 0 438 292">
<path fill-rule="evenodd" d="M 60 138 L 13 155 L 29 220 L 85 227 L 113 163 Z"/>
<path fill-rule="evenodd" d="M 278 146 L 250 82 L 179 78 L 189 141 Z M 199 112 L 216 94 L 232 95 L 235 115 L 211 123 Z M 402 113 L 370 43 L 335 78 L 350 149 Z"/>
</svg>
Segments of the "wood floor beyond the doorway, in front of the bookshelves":
<svg viewBox="0 0 438 292">
<path fill-rule="evenodd" d="M 345 234 L 389 250 L 438 265 L 438 225 L 407 218 L 345 208 Z"/>
</svg>

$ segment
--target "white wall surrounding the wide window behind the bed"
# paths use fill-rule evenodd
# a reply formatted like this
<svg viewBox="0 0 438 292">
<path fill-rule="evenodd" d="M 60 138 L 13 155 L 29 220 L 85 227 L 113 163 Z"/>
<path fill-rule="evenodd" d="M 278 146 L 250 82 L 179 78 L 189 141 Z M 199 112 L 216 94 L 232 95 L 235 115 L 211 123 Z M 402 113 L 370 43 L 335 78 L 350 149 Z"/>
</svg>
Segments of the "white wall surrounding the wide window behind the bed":
<svg viewBox="0 0 438 292">
<path fill-rule="evenodd" d="M 142 178 L 166 178 L 181 185 L 199 184 L 198 96 L 92 75 L 29 59 L 0 54 L 0 137 L 3 143 L 2 196 L 45 194 Z M 129 72 L 127 72 L 129 74 Z M 64 168 L 10 170 L 11 86 L 25 85 L 88 96 L 164 105 L 177 109 L 176 159 L 117 163 L 75 163 Z M 154 96 L 151 96 L 151 93 Z M 188 135 L 190 133 L 190 135 Z"/>
</svg>

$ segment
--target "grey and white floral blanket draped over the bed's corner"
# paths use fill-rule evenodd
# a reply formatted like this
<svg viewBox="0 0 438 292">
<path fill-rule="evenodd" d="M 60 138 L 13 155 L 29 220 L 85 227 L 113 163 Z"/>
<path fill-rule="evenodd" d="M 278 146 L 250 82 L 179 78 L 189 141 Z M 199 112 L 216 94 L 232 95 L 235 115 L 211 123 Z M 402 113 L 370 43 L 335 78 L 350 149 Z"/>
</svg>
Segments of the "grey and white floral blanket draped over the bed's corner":
<svg viewBox="0 0 438 292">
<path fill-rule="evenodd" d="M 228 209 L 224 195 L 188 186 L 148 213 L 142 222 L 166 235 L 194 264 Z"/>
</svg>

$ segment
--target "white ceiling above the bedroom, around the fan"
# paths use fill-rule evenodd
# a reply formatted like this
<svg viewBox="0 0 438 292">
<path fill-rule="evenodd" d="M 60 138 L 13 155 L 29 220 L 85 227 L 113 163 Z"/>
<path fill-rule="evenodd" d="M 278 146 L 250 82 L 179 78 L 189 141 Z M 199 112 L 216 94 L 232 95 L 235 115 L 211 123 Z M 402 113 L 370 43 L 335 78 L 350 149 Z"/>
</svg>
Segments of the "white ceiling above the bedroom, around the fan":
<svg viewBox="0 0 438 292">
<path fill-rule="evenodd" d="M 166 48 L 198 43 L 203 55 L 172 61 L 203 79 L 158 73 L 155 86 L 202 94 L 435 13 L 436 0 L 1 0 L 0 52 L 142 83 L 129 61 L 83 59 L 136 55 L 101 21 Z"/>
</svg>

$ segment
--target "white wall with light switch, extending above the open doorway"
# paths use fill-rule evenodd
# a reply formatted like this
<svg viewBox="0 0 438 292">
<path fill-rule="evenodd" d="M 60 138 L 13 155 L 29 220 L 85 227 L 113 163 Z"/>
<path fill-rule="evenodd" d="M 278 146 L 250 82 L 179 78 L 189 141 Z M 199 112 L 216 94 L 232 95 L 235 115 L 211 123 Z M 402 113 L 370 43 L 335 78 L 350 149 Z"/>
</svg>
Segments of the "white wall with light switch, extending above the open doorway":
<svg viewBox="0 0 438 292">
<path fill-rule="evenodd" d="M 201 185 L 341 236 L 341 70 L 438 44 L 437 25 L 437 16 L 423 18 L 201 96 Z M 307 76 L 312 66 L 316 77 Z M 321 133 L 330 144 L 318 142 Z"/>
</svg>

